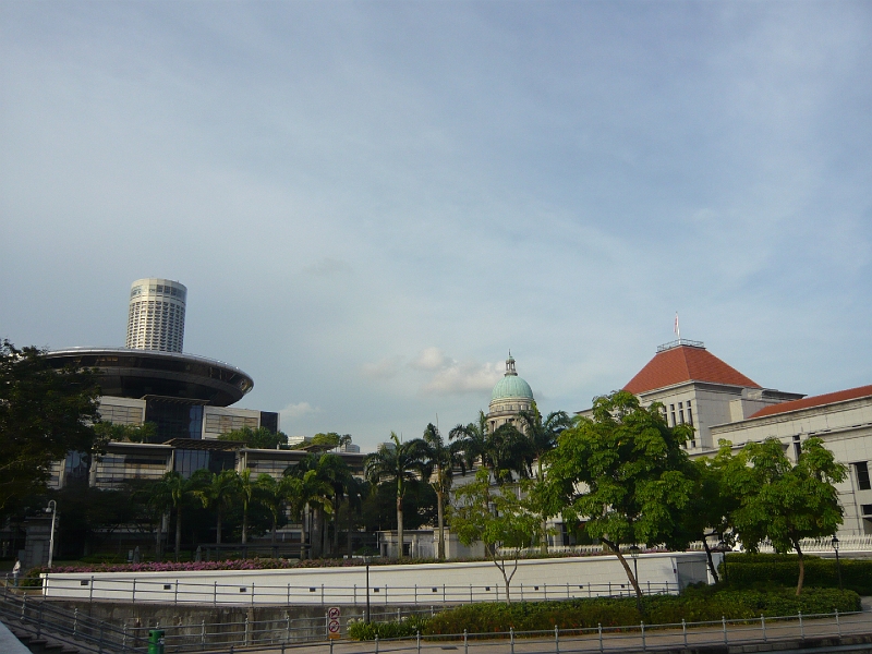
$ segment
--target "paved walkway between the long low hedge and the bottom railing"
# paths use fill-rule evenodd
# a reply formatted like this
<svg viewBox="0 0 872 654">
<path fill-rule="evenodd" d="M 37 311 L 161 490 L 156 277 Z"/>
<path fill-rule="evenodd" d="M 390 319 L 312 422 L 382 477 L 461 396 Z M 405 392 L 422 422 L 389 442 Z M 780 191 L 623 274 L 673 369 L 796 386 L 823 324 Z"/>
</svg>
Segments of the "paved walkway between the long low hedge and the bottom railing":
<svg viewBox="0 0 872 654">
<path fill-rule="evenodd" d="M 767 620 L 765 635 L 761 623 L 750 625 L 727 625 L 727 644 L 737 647 L 737 652 L 765 651 L 772 647 L 774 641 L 796 641 L 797 646 L 802 639 L 818 639 L 839 635 L 867 635 L 872 634 L 872 614 L 862 613 L 840 617 L 838 623 L 834 618 L 820 620 L 803 620 L 800 627 L 799 621 L 794 620 Z M 687 640 L 686 640 L 687 639 Z M 639 629 L 629 633 L 604 632 L 601 650 L 600 637 L 596 632 L 585 633 L 584 635 L 560 635 L 559 643 L 555 642 L 553 635 L 535 639 L 516 639 L 514 645 L 508 640 L 482 641 L 470 640 L 465 647 L 462 641 L 434 642 L 429 640 L 421 641 L 421 652 L 425 654 L 437 654 L 441 652 L 458 652 L 467 654 L 547 654 L 569 652 L 584 652 L 597 654 L 598 652 L 619 652 L 644 650 L 681 650 L 687 647 L 713 646 L 725 644 L 723 626 L 688 629 L 685 633 L 679 629 L 651 630 L 645 632 L 644 643 Z M 749 647 L 750 645 L 750 647 Z M 329 644 L 306 643 L 304 645 L 288 646 L 283 650 L 286 654 L 294 654 L 305 651 L 306 654 L 375 654 L 374 642 L 349 642 L 344 640 L 336 641 L 332 650 Z M 242 650 L 240 650 L 242 652 Z M 245 650 L 245 652 L 257 652 L 259 654 L 280 654 L 282 650 Z M 417 644 L 411 641 L 387 641 L 379 643 L 378 653 L 407 652 L 417 653 Z"/>
</svg>

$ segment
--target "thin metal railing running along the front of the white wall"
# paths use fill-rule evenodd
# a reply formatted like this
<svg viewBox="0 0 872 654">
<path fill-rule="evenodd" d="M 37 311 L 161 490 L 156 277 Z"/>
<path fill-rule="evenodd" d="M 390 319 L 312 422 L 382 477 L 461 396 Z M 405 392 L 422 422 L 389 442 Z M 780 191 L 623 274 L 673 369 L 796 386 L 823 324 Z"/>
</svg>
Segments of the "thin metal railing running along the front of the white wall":
<svg viewBox="0 0 872 654">
<path fill-rule="evenodd" d="M 676 582 L 642 582 L 644 594 L 677 594 Z M 629 582 L 554 584 L 554 583 L 518 583 L 510 586 L 511 596 L 517 600 L 532 602 L 548 600 L 574 600 L 581 597 L 621 597 L 633 593 Z M 199 604 L 211 606 L 241 605 L 354 605 L 366 604 L 462 604 L 472 602 L 500 602 L 506 600 L 506 590 L 501 585 L 413 585 L 390 586 L 388 584 L 353 586 L 278 585 L 255 583 L 197 583 L 186 580 L 149 580 L 148 578 L 101 579 L 98 577 L 60 578 L 53 577 L 44 589 L 46 597 L 53 600 L 85 600 L 161 604 Z"/>
</svg>

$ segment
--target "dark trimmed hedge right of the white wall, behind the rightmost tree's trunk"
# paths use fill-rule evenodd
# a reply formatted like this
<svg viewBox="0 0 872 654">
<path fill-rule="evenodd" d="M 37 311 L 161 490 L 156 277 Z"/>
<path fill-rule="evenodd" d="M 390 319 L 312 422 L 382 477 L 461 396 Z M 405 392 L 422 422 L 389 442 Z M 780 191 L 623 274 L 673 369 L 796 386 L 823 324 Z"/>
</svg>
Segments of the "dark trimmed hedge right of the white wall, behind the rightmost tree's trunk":
<svg viewBox="0 0 872 654">
<path fill-rule="evenodd" d="M 838 588 L 838 569 L 835 559 L 806 556 L 806 586 Z M 872 561 L 843 559 L 843 586 L 872 595 Z M 723 573 L 723 564 L 719 572 Z M 727 555 L 727 581 L 742 589 L 765 588 L 771 584 L 796 586 L 799 581 L 799 561 L 796 555 L 731 554 Z"/>
</svg>

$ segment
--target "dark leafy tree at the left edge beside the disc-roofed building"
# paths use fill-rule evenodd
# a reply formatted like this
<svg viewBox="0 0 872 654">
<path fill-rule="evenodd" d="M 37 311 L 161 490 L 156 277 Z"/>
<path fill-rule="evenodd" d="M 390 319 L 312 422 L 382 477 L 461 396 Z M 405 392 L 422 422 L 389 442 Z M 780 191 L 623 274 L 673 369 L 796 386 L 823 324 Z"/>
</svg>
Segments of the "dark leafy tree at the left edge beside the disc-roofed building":
<svg viewBox="0 0 872 654">
<path fill-rule="evenodd" d="M 0 509 L 45 492 L 51 465 L 68 452 L 100 451 L 92 423 L 99 388 L 89 370 L 56 370 L 37 348 L 0 343 Z"/>
</svg>

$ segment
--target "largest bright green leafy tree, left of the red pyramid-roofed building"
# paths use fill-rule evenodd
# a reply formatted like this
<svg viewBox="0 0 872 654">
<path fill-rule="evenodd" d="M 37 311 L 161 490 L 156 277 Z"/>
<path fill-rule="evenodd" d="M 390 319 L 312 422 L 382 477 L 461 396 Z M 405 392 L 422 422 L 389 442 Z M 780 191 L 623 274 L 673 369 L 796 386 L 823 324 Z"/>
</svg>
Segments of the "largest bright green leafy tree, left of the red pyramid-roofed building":
<svg viewBox="0 0 872 654">
<path fill-rule="evenodd" d="M 687 547 L 681 512 L 693 492 L 681 448 L 692 427 L 669 428 L 661 409 L 622 390 L 595 398 L 593 417 L 566 429 L 545 456 L 548 474 L 535 489 L 547 514 L 586 519 L 588 533 L 623 566 L 640 611 L 642 591 L 620 546 Z"/>
</svg>

